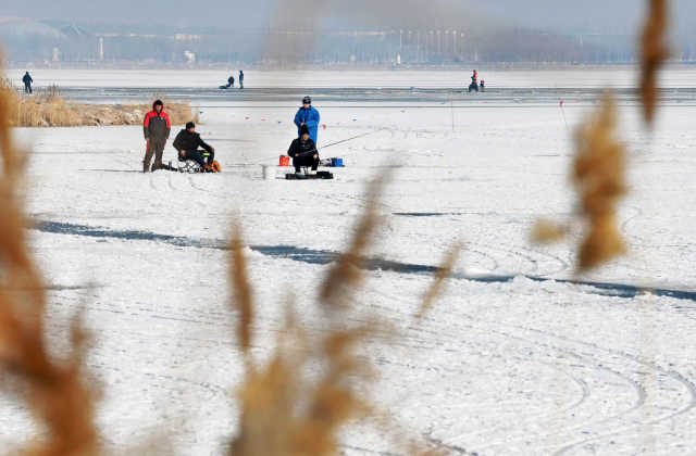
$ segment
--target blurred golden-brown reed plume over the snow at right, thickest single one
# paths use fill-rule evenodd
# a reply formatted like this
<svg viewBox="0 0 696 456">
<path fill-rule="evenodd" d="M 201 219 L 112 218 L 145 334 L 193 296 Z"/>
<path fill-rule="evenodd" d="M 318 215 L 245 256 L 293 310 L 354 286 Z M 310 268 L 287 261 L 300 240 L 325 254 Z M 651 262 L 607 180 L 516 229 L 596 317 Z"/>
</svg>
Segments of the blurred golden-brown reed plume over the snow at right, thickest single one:
<svg viewBox="0 0 696 456">
<path fill-rule="evenodd" d="M 616 204 L 626 192 L 625 154 L 616 139 L 616 104 L 605 96 L 602 105 L 576 134 L 573 183 L 589 232 L 580 246 L 579 269 L 587 270 L 625 252 L 616 227 Z"/>
</svg>

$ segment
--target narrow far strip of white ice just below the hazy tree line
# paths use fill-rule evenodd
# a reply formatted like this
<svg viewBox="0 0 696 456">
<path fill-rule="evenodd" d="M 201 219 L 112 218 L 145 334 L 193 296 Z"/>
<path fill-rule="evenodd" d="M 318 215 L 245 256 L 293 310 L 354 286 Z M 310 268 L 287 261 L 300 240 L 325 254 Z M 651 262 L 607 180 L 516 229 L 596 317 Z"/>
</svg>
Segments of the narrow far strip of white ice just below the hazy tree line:
<svg viewBox="0 0 696 456">
<path fill-rule="evenodd" d="M 8 77 L 20 81 L 26 68 L 7 72 Z M 229 76 L 238 77 L 239 69 L 32 69 L 38 87 L 57 84 L 61 87 L 101 88 L 216 88 L 226 84 Z M 399 69 L 399 71 L 245 71 L 248 88 L 336 88 L 361 89 L 410 88 L 439 89 L 469 86 L 471 69 Z M 661 76 L 661 87 L 696 88 L 695 68 L 689 65 L 672 66 Z M 480 68 L 481 79 L 492 88 L 633 88 L 637 86 L 637 71 L 633 66 L 579 66 L 561 69 L 486 71 Z"/>
</svg>

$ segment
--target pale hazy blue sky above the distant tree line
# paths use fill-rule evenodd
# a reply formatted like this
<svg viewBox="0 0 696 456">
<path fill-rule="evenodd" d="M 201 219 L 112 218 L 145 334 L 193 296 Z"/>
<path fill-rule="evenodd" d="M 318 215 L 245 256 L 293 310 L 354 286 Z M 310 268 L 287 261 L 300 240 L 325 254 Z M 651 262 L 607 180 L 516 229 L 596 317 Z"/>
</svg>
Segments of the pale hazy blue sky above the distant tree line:
<svg viewBox="0 0 696 456">
<path fill-rule="evenodd" d="M 323 7 L 318 9 L 315 4 Z M 316 15 L 340 17 L 346 25 L 374 25 L 447 17 L 464 23 L 472 14 L 490 14 L 532 27 L 576 31 L 579 28 L 635 28 L 645 0 L 286 0 L 283 16 L 312 21 Z M 75 22 L 170 24 L 200 27 L 268 26 L 274 0 L 32 0 L 3 1 L 0 16 Z M 674 16 L 684 29 L 696 25 L 696 0 L 673 0 Z M 428 14 L 430 13 L 430 14 Z M 276 14 L 277 18 L 277 14 Z M 437 24 L 433 24 L 437 26 Z M 465 25 L 465 24 L 462 24 Z"/>
</svg>

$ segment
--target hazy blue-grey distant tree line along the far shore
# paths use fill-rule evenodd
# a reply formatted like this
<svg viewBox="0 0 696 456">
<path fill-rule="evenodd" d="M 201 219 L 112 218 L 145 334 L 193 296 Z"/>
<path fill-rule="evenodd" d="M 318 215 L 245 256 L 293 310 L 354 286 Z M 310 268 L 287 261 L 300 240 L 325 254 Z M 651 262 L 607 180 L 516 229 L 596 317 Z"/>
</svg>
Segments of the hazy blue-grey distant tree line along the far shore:
<svg viewBox="0 0 696 456">
<path fill-rule="evenodd" d="M 209 35 L 95 34 L 80 37 L 12 39 L 11 62 L 167 64 L 245 63 L 440 65 L 473 62 L 634 62 L 629 35 L 562 36 L 522 27 L 313 27 L 217 31 Z M 192 59 L 191 59 L 192 55 Z M 678 60 L 694 60 L 696 43 Z"/>
</svg>

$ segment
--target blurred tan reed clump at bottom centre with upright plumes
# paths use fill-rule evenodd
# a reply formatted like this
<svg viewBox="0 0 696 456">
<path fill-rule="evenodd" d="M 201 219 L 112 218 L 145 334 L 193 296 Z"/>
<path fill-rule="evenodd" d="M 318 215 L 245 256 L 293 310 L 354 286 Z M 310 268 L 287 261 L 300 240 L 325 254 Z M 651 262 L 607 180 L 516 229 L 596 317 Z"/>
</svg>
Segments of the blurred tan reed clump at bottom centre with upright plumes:
<svg viewBox="0 0 696 456">
<path fill-rule="evenodd" d="M 239 389 L 241 416 L 237 435 L 229 444 L 231 456 L 328 456 L 339 454 L 338 433 L 356 418 L 374 414 L 365 392 L 373 379 L 371 364 L 357 354 L 357 347 L 384 325 L 360 316 L 368 324 L 350 326 L 345 318 L 348 303 L 359 291 L 362 262 L 378 223 L 376 197 L 385 179 L 374 181 L 369 190 L 369 204 L 357 224 L 348 252 L 333 264 L 320 287 L 320 305 L 341 312 L 322 313 L 322 334 L 312 334 L 298 324 L 293 304 L 286 307 L 286 324 L 279 331 L 271 360 L 254 366 L 246 356 L 246 379 Z M 239 345 L 245 353 L 251 344 L 252 287 L 241 255 L 240 231 L 234 230 L 231 242 L 231 284 L 234 306 L 239 311 L 237 329 Z M 444 280 L 453 267 L 460 246 L 447 254 L 440 274 L 425 293 L 425 313 L 442 291 Z M 357 312 L 361 312 L 358 309 Z M 315 370 L 319 368 L 320 373 Z M 383 426 L 386 429 L 386 426 Z M 410 454 L 439 455 L 422 446 L 401 442 Z"/>
</svg>

